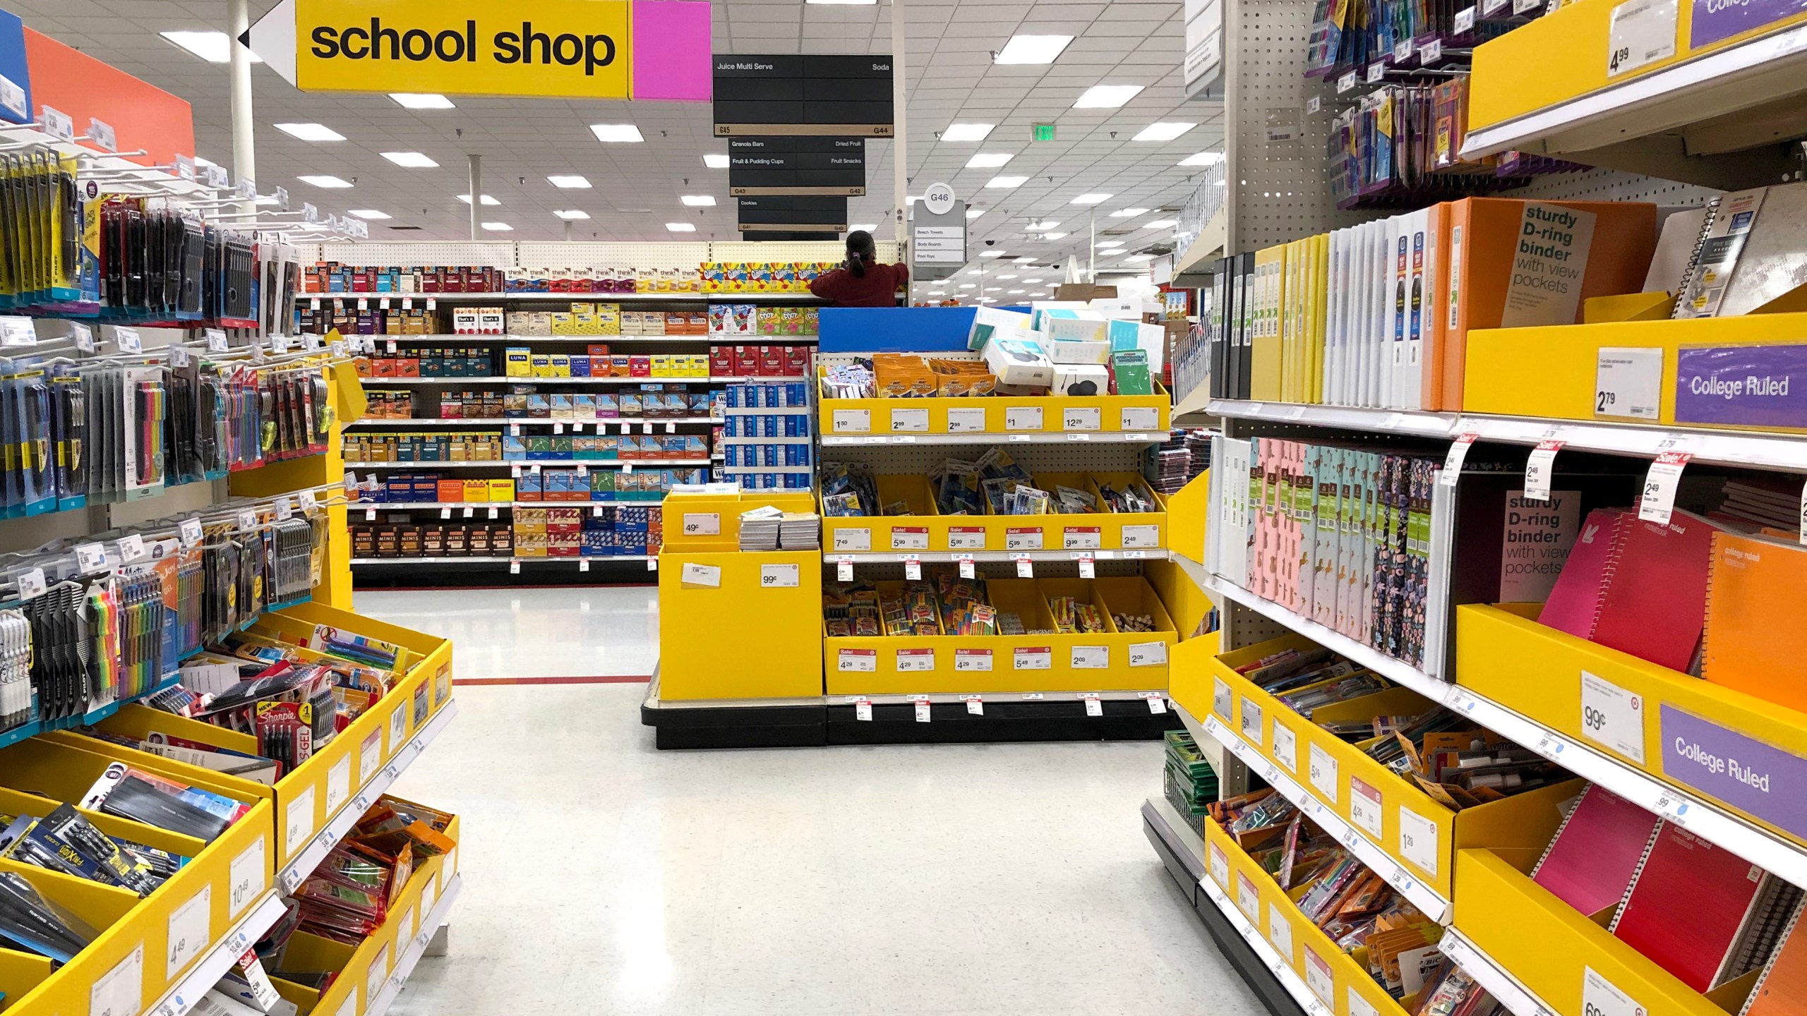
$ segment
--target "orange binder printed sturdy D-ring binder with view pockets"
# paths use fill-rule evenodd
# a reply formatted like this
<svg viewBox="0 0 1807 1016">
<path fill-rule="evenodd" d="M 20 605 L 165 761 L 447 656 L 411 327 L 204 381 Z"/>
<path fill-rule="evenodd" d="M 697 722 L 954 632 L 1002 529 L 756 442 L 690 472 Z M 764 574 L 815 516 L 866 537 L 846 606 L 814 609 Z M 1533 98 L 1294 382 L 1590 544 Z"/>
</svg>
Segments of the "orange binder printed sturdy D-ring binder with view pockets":
<svg viewBox="0 0 1807 1016">
<path fill-rule="evenodd" d="M 1442 284 L 1449 298 L 1444 302 L 1442 342 L 1442 398 L 1446 412 L 1462 409 L 1462 369 L 1467 360 L 1469 329 L 1507 327 L 1507 295 L 1514 289 L 1514 260 L 1536 237 L 1525 237 L 1527 206 L 1594 213 L 1594 239 L 1588 244 L 1587 269 L 1576 296 L 1574 322 L 1590 296 L 1637 293 L 1657 251 L 1657 206 L 1630 201 L 1520 201 L 1509 197 L 1465 197 L 1449 202 L 1449 271 Z M 1550 280 L 1549 286 L 1556 286 Z M 1523 293 L 1527 287 L 1520 287 Z M 1565 293 L 1568 296 L 1570 293 Z M 1426 372 L 1429 378 L 1429 372 Z"/>
</svg>

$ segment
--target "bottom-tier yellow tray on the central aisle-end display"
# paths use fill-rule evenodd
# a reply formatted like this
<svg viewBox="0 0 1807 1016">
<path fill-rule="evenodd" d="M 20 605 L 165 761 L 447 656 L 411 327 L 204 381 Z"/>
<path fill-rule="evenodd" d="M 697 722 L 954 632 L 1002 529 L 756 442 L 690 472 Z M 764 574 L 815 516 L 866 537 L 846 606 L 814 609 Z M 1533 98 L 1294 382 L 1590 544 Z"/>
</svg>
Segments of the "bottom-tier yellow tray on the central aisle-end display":
<svg viewBox="0 0 1807 1016">
<path fill-rule="evenodd" d="M 902 582 L 880 582 L 896 589 Z M 1048 597 L 1095 604 L 1106 631 L 1090 635 L 891 635 L 828 636 L 822 665 L 828 694 L 960 694 L 1035 691 L 1155 691 L 1167 687 L 1167 658 L 1178 642 L 1160 597 L 1140 577 L 990 579 L 990 602 L 1023 618 L 1025 629 L 1053 629 Z M 1151 615 L 1155 631 L 1117 631 L 1111 613 Z"/>
</svg>

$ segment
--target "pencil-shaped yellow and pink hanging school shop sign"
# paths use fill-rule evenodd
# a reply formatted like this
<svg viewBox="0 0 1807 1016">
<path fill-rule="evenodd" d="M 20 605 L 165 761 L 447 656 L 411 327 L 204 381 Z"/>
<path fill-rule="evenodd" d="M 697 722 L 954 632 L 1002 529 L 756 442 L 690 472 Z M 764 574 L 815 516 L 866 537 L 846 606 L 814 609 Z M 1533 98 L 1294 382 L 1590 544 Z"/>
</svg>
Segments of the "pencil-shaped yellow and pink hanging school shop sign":
<svg viewBox="0 0 1807 1016">
<path fill-rule="evenodd" d="M 304 92 L 710 98 L 705 2 L 282 0 L 239 38 Z"/>
</svg>

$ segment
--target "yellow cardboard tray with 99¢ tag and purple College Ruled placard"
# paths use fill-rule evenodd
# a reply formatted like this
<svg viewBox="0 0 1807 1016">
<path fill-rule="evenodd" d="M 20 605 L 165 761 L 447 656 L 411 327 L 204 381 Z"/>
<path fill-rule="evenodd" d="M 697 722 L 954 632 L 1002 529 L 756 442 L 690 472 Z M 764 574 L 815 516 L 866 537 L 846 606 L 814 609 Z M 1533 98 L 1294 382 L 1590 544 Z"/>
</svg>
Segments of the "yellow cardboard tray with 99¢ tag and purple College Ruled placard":
<svg viewBox="0 0 1807 1016">
<path fill-rule="evenodd" d="M 1545 627 L 1536 611 L 1456 607 L 1456 683 L 1807 846 L 1793 810 L 1753 790 L 1789 786 L 1807 767 L 1807 714 Z"/>
</svg>

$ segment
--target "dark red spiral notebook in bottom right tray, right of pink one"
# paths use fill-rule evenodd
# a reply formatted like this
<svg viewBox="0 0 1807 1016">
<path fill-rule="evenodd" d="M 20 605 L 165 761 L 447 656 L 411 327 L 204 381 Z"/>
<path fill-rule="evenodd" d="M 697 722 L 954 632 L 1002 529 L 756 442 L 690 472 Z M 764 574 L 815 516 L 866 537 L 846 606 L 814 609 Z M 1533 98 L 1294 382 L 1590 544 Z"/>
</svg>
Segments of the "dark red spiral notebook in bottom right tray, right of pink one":
<svg viewBox="0 0 1807 1016">
<path fill-rule="evenodd" d="M 1706 992 L 1769 960 L 1800 889 L 1662 823 L 1608 931 Z"/>
</svg>

